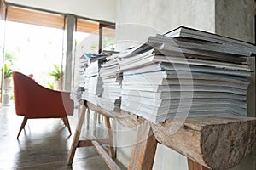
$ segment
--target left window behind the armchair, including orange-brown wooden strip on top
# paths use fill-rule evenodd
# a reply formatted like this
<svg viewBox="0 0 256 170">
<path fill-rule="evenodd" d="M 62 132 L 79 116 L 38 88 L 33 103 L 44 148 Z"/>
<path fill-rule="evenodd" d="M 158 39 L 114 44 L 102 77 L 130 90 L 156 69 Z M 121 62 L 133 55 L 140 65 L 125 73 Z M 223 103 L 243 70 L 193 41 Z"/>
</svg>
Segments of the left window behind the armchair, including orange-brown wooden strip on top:
<svg viewBox="0 0 256 170">
<path fill-rule="evenodd" d="M 49 71 L 61 65 L 64 15 L 9 6 L 5 31 L 6 65 L 33 73 L 44 87 L 53 88 Z M 60 66 L 61 67 L 61 66 Z"/>
</svg>

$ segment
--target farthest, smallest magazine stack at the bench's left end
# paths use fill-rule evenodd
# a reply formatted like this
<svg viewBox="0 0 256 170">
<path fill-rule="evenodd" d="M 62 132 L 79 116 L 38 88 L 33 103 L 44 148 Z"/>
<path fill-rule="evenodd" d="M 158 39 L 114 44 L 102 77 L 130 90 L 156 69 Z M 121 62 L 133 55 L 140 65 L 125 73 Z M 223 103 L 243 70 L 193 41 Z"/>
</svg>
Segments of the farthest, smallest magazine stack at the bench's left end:
<svg viewBox="0 0 256 170">
<path fill-rule="evenodd" d="M 97 105 L 97 98 L 103 92 L 102 77 L 99 76 L 100 65 L 103 59 L 92 61 L 84 71 L 84 92 L 82 98 Z"/>
</svg>

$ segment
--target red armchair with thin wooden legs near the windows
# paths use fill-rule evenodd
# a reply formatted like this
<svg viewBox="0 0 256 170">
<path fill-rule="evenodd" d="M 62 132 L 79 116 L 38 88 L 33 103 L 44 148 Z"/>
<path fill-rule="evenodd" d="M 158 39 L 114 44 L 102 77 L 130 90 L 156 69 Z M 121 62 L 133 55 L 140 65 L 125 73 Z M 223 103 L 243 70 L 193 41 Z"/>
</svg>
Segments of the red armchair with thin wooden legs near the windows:
<svg viewBox="0 0 256 170">
<path fill-rule="evenodd" d="M 17 139 L 25 127 L 27 119 L 62 118 L 71 134 L 67 115 L 73 115 L 73 100 L 68 92 L 44 88 L 32 78 L 13 71 L 15 111 L 24 116 Z"/>
</svg>

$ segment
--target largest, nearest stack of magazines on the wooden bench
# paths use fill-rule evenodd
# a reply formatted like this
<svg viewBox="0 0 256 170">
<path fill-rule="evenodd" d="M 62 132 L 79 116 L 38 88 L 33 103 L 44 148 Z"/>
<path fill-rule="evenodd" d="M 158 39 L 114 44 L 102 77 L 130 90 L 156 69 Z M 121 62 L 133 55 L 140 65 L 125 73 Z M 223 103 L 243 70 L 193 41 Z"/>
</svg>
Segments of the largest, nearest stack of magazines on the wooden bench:
<svg viewBox="0 0 256 170">
<path fill-rule="evenodd" d="M 247 57 L 254 54 L 247 42 L 186 27 L 149 37 L 119 55 L 121 109 L 154 123 L 174 116 L 246 116 Z"/>
</svg>

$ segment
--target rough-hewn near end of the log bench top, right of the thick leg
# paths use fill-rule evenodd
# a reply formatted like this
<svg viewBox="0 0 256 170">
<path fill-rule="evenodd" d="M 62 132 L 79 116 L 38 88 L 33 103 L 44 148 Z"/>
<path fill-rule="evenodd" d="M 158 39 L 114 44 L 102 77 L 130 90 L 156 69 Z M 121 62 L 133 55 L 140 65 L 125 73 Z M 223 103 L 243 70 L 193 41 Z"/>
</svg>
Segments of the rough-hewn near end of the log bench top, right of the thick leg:
<svg viewBox="0 0 256 170">
<path fill-rule="evenodd" d="M 253 117 L 189 117 L 177 133 L 171 135 L 172 122 L 151 124 L 158 142 L 207 168 L 234 167 L 256 144 L 256 118 Z"/>
</svg>

